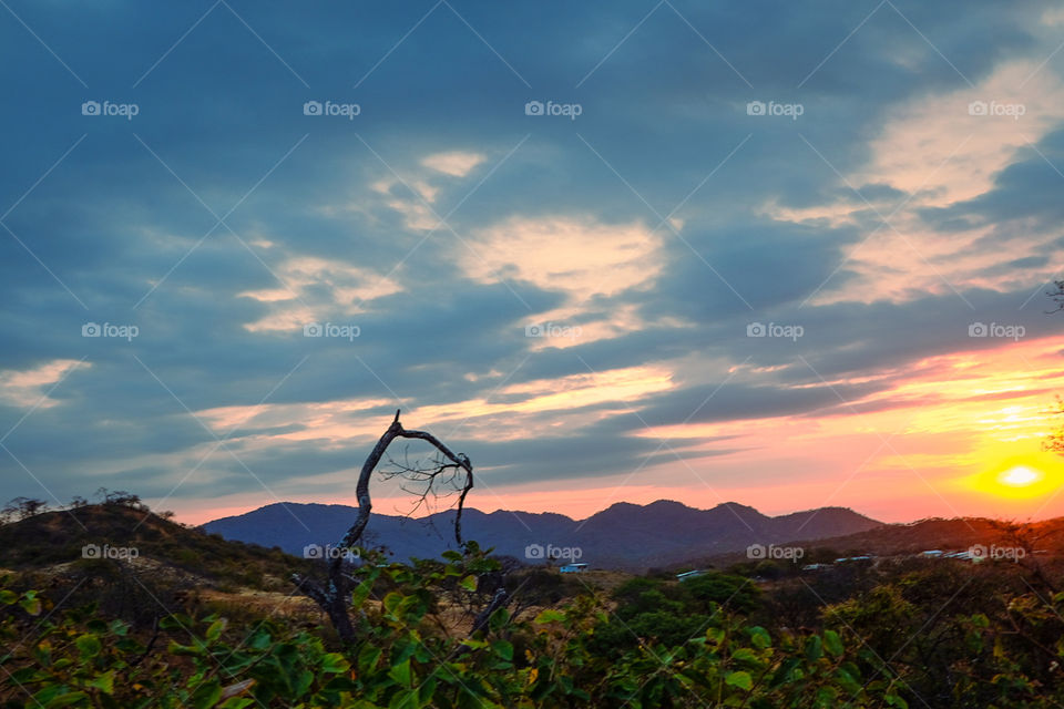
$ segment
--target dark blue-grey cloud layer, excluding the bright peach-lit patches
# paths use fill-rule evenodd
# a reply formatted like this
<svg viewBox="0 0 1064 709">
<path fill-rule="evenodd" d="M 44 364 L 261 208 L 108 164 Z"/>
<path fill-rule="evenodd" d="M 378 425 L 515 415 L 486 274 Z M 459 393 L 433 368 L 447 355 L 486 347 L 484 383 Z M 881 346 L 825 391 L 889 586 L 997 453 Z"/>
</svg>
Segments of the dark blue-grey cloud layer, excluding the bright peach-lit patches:
<svg viewBox="0 0 1064 709">
<path fill-rule="evenodd" d="M 966 337 L 972 321 L 1055 333 L 1039 308 L 1016 310 L 1052 271 L 1044 254 L 976 274 L 1023 281 L 1016 287 L 806 302 L 826 281 L 829 291 L 862 282 L 845 259 L 878 217 L 840 174 L 868 163 L 891 110 L 964 90 L 1003 61 L 1041 61 L 1046 7 L 675 2 L 624 40 L 648 7 L 13 1 L 0 16 L 0 371 L 9 372 L 0 433 L 18 428 L 4 441 L 10 455 L 0 452 L 0 496 L 42 494 L 23 464 L 60 497 L 99 481 L 165 495 L 219 434 L 185 407 L 266 397 L 514 402 L 540 380 L 686 362 L 673 390 L 627 402 L 638 417 L 560 436 L 457 442 L 477 452 L 493 485 L 625 474 L 656 451 L 672 455 L 633 435 L 644 425 L 833 414 L 840 395 L 856 400 L 896 379 L 829 387 L 821 378 L 989 347 Z M 86 101 L 134 103 L 139 113 L 86 116 Z M 308 101 L 357 103 L 360 113 L 305 115 Z M 579 103 L 582 113 L 526 115 L 530 101 Z M 805 113 L 750 116 L 750 101 L 800 102 Z M 1026 220 L 1056 248 L 1064 178 L 1047 161 L 1064 164 L 1062 145 L 1064 132 L 1050 133 L 985 194 L 919 209 L 922 224 L 942 235 L 991 227 L 976 243 L 991 250 L 994 239 L 1029 243 L 1016 226 Z M 448 175 L 423 162 L 439 153 L 479 162 Z M 860 193 L 888 210 L 907 197 L 876 179 Z M 861 213 L 799 224 L 767 206 L 841 202 Z M 615 292 L 581 295 L 579 276 L 478 276 L 499 247 L 484 234 L 512 217 L 638 225 L 657 246 L 642 264 L 645 280 Z M 270 290 L 288 295 L 260 295 Z M 565 308 L 589 330 L 620 312 L 640 325 L 564 349 L 525 337 L 525 325 Z M 357 325 L 360 335 L 306 338 L 311 320 Z M 287 325 L 256 327 L 278 321 Z M 798 323 L 805 335 L 746 337 L 754 321 Z M 84 338 L 86 322 L 139 335 Z M 57 376 L 11 383 L 12 372 L 60 360 L 83 364 L 54 391 Z M 722 386 L 740 362 L 771 373 Z M 617 408 L 586 412 L 596 420 Z M 244 464 L 280 486 L 359 460 L 361 439 L 250 444 L 308 425 L 239 428 L 229 445 L 241 462 L 216 453 L 175 496 L 257 491 Z M 735 450 L 720 446 L 715 454 Z"/>
</svg>

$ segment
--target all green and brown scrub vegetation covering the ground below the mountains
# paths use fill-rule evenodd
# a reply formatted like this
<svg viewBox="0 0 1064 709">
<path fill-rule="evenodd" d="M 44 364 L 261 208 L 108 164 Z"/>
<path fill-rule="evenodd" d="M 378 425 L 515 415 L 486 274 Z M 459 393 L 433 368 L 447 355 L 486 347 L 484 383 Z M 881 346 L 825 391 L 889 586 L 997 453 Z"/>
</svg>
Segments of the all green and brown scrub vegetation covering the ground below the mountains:
<svg viewBox="0 0 1064 709">
<path fill-rule="evenodd" d="M 361 563 L 345 566 L 356 637 L 345 644 L 309 600 L 296 612 L 247 603 L 284 598 L 286 572 L 314 573 L 305 559 L 147 516 L 140 557 L 71 561 L 73 542 L 127 532 L 146 514 L 113 502 L 75 513 L 84 531 L 66 512 L 0 527 L 11 569 L 0 582 L 0 707 L 1064 701 L 1062 574 L 1044 557 L 1037 567 L 880 559 L 812 575 L 759 563 L 606 584 L 523 568 L 471 542 L 409 565 L 360 549 Z M 49 551 L 60 537 L 73 541 Z M 196 558 L 173 556 L 171 542 Z M 275 580 L 241 578 L 242 568 Z M 500 579 L 513 603 L 479 623 Z M 180 593 L 188 584 L 194 593 Z M 135 608 L 119 603 L 136 588 Z M 213 603 L 194 598 L 211 589 Z"/>
</svg>

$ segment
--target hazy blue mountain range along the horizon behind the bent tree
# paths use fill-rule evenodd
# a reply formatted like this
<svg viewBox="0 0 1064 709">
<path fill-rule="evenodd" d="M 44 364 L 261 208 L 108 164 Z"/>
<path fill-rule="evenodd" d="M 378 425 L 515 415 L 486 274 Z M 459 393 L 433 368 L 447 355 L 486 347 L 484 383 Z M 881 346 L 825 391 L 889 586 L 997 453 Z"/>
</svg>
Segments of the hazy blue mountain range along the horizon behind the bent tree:
<svg viewBox="0 0 1064 709">
<path fill-rule="evenodd" d="M 344 536 L 357 507 L 347 505 L 276 503 L 246 514 L 208 522 L 204 530 L 226 540 L 278 546 L 303 555 L 308 545 L 336 543 Z M 367 542 L 382 544 L 397 559 L 437 557 L 453 548 L 454 512 L 440 512 L 420 520 L 374 514 Z M 696 510 L 679 502 L 658 500 L 647 505 L 616 503 L 586 520 L 556 513 L 497 511 L 490 514 L 467 508 L 462 534 L 497 554 L 520 559 L 526 547 L 539 545 L 579 553 L 579 559 L 600 568 L 642 571 L 745 549 L 748 545 L 778 544 L 794 538 L 820 538 L 856 534 L 881 526 L 845 507 L 821 507 L 769 517 L 754 507 L 728 502 L 712 510 Z M 576 552 L 579 549 L 579 552 Z"/>
</svg>

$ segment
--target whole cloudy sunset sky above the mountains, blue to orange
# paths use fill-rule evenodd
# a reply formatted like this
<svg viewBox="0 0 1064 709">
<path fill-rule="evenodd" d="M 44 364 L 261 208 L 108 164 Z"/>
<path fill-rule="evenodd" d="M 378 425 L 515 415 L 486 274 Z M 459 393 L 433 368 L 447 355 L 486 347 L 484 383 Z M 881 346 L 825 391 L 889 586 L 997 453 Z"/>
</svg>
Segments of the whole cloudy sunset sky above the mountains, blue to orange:
<svg viewBox="0 0 1064 709">
<path fill-rule="evenodd" d="M 1064 515 L 1056 3 L 2 0 L 0 56 L 0 500 L 354 504 L 401 409 L 484 511 Z"/>
</svg>

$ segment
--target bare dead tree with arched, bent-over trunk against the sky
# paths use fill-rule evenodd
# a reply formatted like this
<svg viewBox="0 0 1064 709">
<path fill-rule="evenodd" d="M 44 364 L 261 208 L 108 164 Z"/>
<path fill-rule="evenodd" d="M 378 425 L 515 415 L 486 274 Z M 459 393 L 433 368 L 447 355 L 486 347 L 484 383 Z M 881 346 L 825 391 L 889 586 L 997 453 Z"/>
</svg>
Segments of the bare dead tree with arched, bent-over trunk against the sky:
<svg viewBox="0 0 1064 709">
<path fill-rule="evenodd" d="M 457 514 L 454 515 L 454 540 L 459 546 L 462 546 L 462 506 L 466 504 L 466 495 L 473 487 L 473 466 L 462 453 L 454 453 L 440 442 L 434 435 L 426 431 L 409 431 L 399 423 L 399 411 L 396 411 L 396 418 L 391 425 L 385 431 L 377 445 L 370 451 L 366 462 L 362 463 L 362 470 L 358 475 L 358 483 L 355 486 L 355 495 L 358 499 L 358 516 L 355 524 L 347 531 L 339 549 L 329 555 L 328 578 L 323 584 L 313 578 L 300 574 L 295 574 L 293 580 L 305 595 L 314 599 L 320 606 L 321 610 L 329 617 L 332 627 L 336 628 L 340 640 L 346 644 L 354 643 L 355 628 L 351 625 L 351 618 L 348 614 L 348 598 L 351 594 L 351 577 L 345 573 L 345 556 L 342 552 L 351 549 L 359 544 L 366 525 L 369 524 L 369 514 L 372 510 L 372 500 L 369 494 L 369 482 L 374 471 L 385 456 L 388 446 L 396 439 L 419 439 L 432 445 L 438 455 L 426 464 L 403 464 L 396 470 L 385 472 L 386 476 L 401 475 L 411 483 L 421 485 L 419 491 L 420 499 L 418 504 L 423 502 L 429 495 L 437 494 L 441 486 L 449 486 L 458 492 Z M 406 487 L 405 487 L 406 490 Z"/>
</svg>

